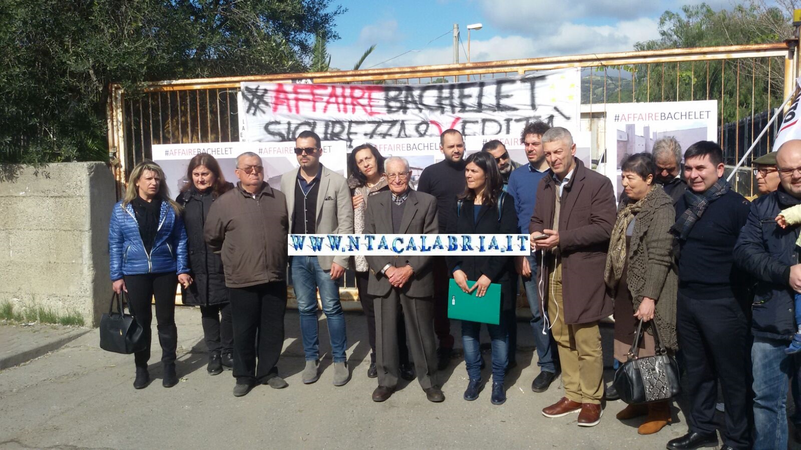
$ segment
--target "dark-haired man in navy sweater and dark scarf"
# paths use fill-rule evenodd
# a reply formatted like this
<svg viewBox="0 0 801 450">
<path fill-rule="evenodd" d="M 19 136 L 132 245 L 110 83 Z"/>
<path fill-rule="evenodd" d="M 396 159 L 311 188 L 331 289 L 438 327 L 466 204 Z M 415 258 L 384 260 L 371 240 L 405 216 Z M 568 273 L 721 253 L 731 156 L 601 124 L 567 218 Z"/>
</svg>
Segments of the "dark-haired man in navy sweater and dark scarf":
<svg viewBox="0 0 801 450">
<path fill-rule="evenodd" d="M 751 300 L 747 275 L 734 264 L 733 250 L 751 203 L 723 177 L 723 151 L 716 143 L 694 143 L 684 154 L 687 191 L 676 203 L 678 238 L 678 348 L 687 369 L 689 432 L 667 448 L 718 444 L 714 405 L 718 379 L 726 405 L 723 448 L 751 448 L 749 410 Z"/>
</svg>

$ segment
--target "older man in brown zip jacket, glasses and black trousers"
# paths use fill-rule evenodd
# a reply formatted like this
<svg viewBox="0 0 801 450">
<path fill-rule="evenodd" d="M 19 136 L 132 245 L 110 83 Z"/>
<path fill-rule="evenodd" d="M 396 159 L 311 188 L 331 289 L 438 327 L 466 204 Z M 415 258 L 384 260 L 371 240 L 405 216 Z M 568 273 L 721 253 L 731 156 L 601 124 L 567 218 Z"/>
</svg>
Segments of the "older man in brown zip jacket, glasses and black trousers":
<svg viewBox="0 0 801 450">
<path fill-rule="evenodd" d="M 284 344 L 289 222 L 284 194 L 264 182 L 259 155 L 239 155 L 236 176 L 236 188 L 211 205 L 203 235 L 223 259 L 234 328 L 234 396 L 239 397 L 256 384 L 287 386 L 276 363 Z"/>
</svg>

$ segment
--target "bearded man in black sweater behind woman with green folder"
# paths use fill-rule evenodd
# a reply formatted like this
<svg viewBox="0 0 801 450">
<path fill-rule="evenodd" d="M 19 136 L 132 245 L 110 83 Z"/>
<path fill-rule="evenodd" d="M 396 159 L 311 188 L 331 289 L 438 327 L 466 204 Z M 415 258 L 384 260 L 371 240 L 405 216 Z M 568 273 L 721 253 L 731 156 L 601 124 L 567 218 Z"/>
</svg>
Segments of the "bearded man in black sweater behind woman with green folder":
<svg viewBox="0 0 801 450">
<path fill-rule="evenodd" d="M 457 195 L 465 191 L 465 139 L 457 130 L 449 129 L 440 135 L 440 151 L 445 159 L 426 167 L 420 175 L 417 191 L 437 198 L 437 217 L 439 232 L 445 234 L 445 227 L 451 220 L 453 204 Z M 437 368 L 448 367 L 453 352 L 453 335 L 450 334 L 448 319 L 448 280 L 450 278 L 445 257 L 437 256 L 432 261 L 434 273 L 434 331 L 440 348 L 437 350 Z"/>
</svg>

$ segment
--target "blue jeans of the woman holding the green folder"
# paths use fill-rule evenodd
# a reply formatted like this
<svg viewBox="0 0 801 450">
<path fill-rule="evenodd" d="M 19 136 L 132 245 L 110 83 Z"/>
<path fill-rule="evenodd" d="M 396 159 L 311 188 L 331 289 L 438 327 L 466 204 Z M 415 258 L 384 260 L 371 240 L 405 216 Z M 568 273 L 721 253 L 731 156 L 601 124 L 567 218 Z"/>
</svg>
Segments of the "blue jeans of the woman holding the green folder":
<svg viewBox="0 0 801 450">
<path fill-rule="evenodd" d="M 507 316 L 501 313 L 501 323 L 487 323 L 489 339 L 493 349 L 493 383 L 503 384 L 506 365 L 509 364 L 509 333 L 506 330 Z M 470 380 L 481 380 L 481 322 L 461 321 L 461 343 L 465 348 L 465 365 Z"/>
</svg>

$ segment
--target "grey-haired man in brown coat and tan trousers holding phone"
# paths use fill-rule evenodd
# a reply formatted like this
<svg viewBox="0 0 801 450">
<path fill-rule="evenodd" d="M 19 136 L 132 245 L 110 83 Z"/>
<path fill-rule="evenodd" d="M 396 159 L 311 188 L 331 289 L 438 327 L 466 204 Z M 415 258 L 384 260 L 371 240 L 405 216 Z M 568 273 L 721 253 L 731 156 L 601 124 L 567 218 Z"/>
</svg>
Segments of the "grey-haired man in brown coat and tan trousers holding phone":
<svg viewBox="0 0 801 450">
<path fill-rule="evenodd" d="M 542 251 L 540 307 L 557 342 L 565 385 L 565 396 L 542 414 L 579 412 L 578 425 L 592 427 L 602 415 L 598 320 L 612 313 L 603 271 L 616 214 L 614 190 L 609 179 L 575 158 L 570 131 L 553 127 L 542 135 L 542 145 L 553 174 L 537 187 L 529 232 L 532 250 Z"/>
</svg>

